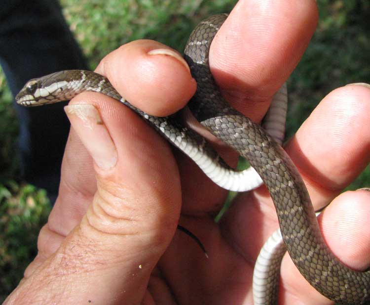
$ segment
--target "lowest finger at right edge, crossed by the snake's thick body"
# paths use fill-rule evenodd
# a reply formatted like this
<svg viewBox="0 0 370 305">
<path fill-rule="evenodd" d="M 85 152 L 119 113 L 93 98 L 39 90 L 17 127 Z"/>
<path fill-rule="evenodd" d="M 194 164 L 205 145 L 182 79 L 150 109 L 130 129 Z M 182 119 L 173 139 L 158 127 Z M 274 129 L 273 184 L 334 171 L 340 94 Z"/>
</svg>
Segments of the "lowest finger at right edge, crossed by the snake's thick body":
<svg viewBox="0 0 370 305">
<path fill-rule="evenodd" d="M 328 247 L 343 264 L 358 271 L 370 266 L 370 230 L 364 230 L 369 226 L 369 202 L 368 191 L 345 192 L 319 216 Z M 307 305 L 333 304 L 308 284 L 288 255 L 282 262 L 281 279 L 282 304 L 293 304 L 297 299 Z"/>
</svg>

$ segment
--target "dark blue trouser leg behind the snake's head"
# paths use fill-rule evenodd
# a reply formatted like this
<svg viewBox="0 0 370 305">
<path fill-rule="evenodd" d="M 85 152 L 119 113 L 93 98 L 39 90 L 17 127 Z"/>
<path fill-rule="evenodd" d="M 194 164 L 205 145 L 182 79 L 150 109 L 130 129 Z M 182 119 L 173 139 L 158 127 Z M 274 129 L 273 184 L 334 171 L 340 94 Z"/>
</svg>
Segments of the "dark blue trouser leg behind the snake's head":
<svg viewBox="0 0 370 305">
<path fill-rule="evenodd" d="M 14 96 L 32 78 L 87 69 L 57 0 L 1 1 L 0 64 Z M 58 192 L 70 126 L 63 106 L 25 108 L 14 103 L 23 178 L 46 189 L 51 198 Z"/>
</svg>

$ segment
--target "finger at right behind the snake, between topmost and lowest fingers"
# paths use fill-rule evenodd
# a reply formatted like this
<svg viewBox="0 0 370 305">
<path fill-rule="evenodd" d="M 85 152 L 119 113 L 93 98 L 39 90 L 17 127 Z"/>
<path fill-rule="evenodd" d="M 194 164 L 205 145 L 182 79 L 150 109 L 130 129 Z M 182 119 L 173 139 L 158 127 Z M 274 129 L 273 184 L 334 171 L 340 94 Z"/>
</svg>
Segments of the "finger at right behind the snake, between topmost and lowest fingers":
<svg viewBox="0 0 370 305">
<path fill-rule="evenodd" d="M 335 89 L 285 146 L 316 210 L 331 202 L 370 162 L 369 113 L 370 88 Z M 277 228 L 276 212 L 264 187 L 241 194 L 224 221 L 229 238 L 254 259 Z M 256 239 L 256 234 L 261 238 Z"/>
</svg>

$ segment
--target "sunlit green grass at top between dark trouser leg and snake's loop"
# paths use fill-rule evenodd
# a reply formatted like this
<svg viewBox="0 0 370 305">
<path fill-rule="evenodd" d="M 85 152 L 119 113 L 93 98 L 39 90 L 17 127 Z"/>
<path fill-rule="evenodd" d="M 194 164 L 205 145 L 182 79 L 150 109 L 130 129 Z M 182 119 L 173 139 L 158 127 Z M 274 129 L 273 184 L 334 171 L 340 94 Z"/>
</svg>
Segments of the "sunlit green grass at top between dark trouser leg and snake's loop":
<svg viewBox="0 0 370 305">
<path fill-rule="evenodd" d="M 93 68 L 109 51 L 137 39 L 153 39 L 182 51 L 200 20 L 230 11 L 236 3 L 235 0 L 61 2 L 71 29 Z"/>
</svg>

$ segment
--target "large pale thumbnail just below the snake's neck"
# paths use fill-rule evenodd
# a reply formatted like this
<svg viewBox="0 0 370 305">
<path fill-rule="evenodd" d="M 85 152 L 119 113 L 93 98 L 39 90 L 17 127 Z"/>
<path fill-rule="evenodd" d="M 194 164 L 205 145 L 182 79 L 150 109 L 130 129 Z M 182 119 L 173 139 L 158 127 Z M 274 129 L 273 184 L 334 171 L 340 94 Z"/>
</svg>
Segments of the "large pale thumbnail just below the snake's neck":
<svg viewBox="0 0 370 305">
<path fill-rule="evenodd" d="M 64 111 L 96 165 L 104 170 L 114 167 L 117 150 L 98 109 L 91 104 L 79 104 L 68 105 Z"/>
</svg>

